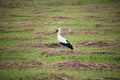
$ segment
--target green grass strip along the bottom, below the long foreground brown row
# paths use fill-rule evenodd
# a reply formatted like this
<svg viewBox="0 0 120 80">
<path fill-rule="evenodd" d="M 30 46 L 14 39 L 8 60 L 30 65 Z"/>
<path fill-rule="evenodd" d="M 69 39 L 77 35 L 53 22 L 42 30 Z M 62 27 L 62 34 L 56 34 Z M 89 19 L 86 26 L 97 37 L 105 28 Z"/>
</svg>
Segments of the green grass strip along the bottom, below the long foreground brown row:
<svg viewBox="0 0 120 80">
<path fill-rule="evenodd" d="M 41 80 L 45 78 L 41 73 L 57 73 L 66 74 L 74 78 L 120 78 L 119 71 L 109 71 L 109 70 L 69 70 L 69 69 L 56 69 L 56 68 L 7 68 L 0 69 L 0 79 L 36 79 Z M 54 77 L 53 77 L 54 78 Z"/>
</svg>

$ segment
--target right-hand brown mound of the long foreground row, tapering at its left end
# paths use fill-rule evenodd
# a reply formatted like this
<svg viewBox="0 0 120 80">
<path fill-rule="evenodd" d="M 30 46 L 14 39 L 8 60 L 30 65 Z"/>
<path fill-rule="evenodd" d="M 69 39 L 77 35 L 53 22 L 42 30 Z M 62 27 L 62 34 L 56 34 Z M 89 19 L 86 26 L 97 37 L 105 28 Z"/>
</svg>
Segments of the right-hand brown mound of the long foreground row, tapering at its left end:
<svg viewBox="0 0 120 80">
<path fill-rule="evenodd" d="M 73 68 L 73 69 L 110 69 L 120 70 L 120 65 L 117 64 L 103 64 L 103 63 L 88 63 L 78 60 L 64 60 L 55 64 L 50 64 L 50 67 L 57 68 Z"/>
</svg>

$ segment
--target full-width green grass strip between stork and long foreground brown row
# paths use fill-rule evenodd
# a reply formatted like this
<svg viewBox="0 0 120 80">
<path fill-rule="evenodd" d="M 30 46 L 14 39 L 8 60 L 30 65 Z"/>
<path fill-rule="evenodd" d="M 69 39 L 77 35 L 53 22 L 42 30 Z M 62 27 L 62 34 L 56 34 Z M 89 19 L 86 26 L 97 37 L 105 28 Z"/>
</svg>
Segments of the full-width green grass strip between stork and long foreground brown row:
<svg viewBox="0 0 120 80">
<path fill-rule="evenodd" d="M 80 60 L 83 62 L 94 62 L 94 63 L 120 63 L 120 56 L 119 54 L 92 54 L 90 52 L 81 54 L 56 54 L 54 53 L 53 56 L 45 57 L 41 53 L 44 50 L 40 49 L 15 49 L 15 50 L 6 50 L 2 51 L 0 56 L 1 62 L 8 62 L 8 61 L 42 61 L 45 64 L 51 64 L 60 62 L 63 60 Z M 90 51 L 90 50 L 89 50 Z M 94 52 L 95 50 L 91 50 Z M 102 52 L 102 51 L 101 51 Z M 76 56 L 77 55 L 77 56 Z"/>
</svg>

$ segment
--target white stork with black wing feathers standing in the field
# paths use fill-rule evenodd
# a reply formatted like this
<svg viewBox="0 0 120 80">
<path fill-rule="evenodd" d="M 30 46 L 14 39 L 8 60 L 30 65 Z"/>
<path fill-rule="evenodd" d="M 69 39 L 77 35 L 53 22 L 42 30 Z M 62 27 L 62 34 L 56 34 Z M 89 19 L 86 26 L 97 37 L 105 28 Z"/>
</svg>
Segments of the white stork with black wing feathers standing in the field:
<svg viewBox="0 0 120 80">
<path fill-rule="evenodd" d="M 58 35 L 57 35 L 58 42 L 59 42 L 61 45 L 66 46 L 66 47 L 68 47 L 68 48 L 70 48 L 70 49 L 73 50 L 73 46 L 70 44 L 70 42 L 69 42 L 68 40 L 66 40 L 65 38 L 63 38 L 63 37 L 60 35 L 60 31 L 61 31 L 60 28 L 58 28 L 58 29 L 56 30 L 56 32 L 58 32 Z"/>
</svg>

